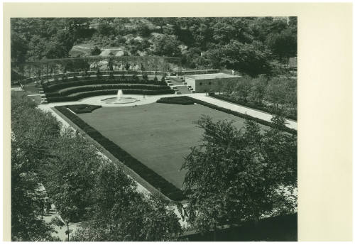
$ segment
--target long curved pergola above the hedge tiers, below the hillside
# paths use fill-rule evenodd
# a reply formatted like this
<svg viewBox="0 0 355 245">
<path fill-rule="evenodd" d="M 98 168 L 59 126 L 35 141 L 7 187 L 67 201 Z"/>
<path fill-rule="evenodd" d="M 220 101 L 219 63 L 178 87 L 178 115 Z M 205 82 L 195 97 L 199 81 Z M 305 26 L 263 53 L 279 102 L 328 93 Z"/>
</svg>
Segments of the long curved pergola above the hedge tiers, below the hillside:
<svg viewBox="0 0 355 245">
<path fill-rule="evenodd" d="M 22 77 L 43 80 L 56 74 L 70 72 L 132 72 L 155 74 L 156 72 L 181 72 L 181 58 L 165 56 L 87 56 L 12 63 Z M 25 79 L 26 79 L 25 78 Z"/>
</svg>

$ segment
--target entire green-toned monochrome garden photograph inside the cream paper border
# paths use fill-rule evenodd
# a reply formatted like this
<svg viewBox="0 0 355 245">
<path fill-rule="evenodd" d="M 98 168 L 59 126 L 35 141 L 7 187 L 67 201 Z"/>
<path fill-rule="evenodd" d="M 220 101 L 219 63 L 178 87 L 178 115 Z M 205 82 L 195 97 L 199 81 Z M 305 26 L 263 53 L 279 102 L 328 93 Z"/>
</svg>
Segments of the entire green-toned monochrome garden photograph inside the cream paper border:
<svg viewBox="0 0 355 245">
<path fill-rule="evenodd" d="M 11 18 L 12 241 L 297 241 L 297 16 Z"/>
</svg>

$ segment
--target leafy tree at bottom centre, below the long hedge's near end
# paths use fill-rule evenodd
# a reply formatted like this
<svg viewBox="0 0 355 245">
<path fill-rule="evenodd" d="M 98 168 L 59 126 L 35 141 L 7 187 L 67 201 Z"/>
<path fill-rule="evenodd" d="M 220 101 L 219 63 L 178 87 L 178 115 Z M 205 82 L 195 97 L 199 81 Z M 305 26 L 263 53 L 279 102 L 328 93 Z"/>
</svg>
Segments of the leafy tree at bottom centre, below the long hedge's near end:
<svg viewBox="0 0 355 245">
<path fill-rule="evenodd" d="M 166 202 L 136 192 L 133 180 L 114 163 L 102 163 L 95 180 L 91 220 L 75 232 L 75 241 L 171 241 L 181 233 Z"/>
</svg>

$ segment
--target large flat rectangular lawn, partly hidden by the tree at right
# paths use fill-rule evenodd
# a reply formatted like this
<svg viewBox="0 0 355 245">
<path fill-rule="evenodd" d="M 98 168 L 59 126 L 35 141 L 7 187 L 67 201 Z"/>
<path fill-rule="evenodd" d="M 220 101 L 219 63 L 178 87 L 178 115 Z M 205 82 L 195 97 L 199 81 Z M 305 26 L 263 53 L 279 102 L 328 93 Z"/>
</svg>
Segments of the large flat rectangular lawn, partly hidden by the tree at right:
<svg viewBox="0 0 355 245">
<path fill-rule="evenodd" d="M 214 120 L 233 119 L 237 128 L 244 126 L 244 119 L 200 104 L 102 107 L 77 116 L 180 188 L 186 173 L 180 171 L 184 157 L 202 137 L 202 129 L 193 124 L 201 114 Z"/>
</svg>

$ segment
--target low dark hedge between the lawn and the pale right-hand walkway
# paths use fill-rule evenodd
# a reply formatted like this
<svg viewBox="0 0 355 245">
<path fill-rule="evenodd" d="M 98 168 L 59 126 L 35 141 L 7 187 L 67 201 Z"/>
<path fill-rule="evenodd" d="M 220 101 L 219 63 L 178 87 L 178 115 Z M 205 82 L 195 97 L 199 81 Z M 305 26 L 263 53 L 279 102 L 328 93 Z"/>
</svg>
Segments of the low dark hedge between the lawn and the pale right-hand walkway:
<svg viewBox="0 0 355 245">
<path fill-rule="evenodd" d="M 194 103 L 197 103 L 197 104 L 201 104 L 202 106 L 205 106 L 205 107 L 209 107 L 209 108 L 212 108 L 212 109 L 216 109 L 217 111 L 223 111 L 225 113 L 228 113 L 228 114 L 232 114 L 234 116 L 239 116 L 243 119 L 249 119 L 249 120 L 253 120 L 253 121 L 256 121 L 258 124 L 263 124 L 265 126 L 269 126 L 269 127 L 273 127 L 273 123 L 271 123 L 270 121 L 265 121 L 265 120 L 262 120 L 262 119 L 258 119 L 257 117 L 253 117 L 253 116 L 249 116 L 248 114 L 243 114 L 243 113 L 240 113 L 240 112 L 237 112 L 237 111 L 232 111 L 230 109 L 226 109 L 224 107 L 218 107 L 217 105 L 214 105 L 214 104 L 210 104 L 210 103 L 207 103 L 207 102 L 204 102 L 200 99 L 195 99 L 195 98 L 192 98 L 192 97 L 187 97 L 187 96 L 180 96 L 180 97 L 163 97 L 161 99 L 164 99 L 165 101 L 168 100 L 168 99 L 173 99 L 173 98 L 184 98 L 186 99 L 187 101 L 190 101 L 190 102 L 194 102 Z M 162 102 L 160 102 L 162 103 Z M 170 104 L 174 104 L 174 103 L 170 103 Z M 295 129 L 290 129 L 288 128 L 287 126 L 284 126 L 283 127 L 283 131 L 285 132 L 288 132 L 290 134 L 295 134 L 297 135 L 297 130 Z"/>
</svg>

